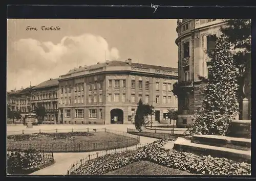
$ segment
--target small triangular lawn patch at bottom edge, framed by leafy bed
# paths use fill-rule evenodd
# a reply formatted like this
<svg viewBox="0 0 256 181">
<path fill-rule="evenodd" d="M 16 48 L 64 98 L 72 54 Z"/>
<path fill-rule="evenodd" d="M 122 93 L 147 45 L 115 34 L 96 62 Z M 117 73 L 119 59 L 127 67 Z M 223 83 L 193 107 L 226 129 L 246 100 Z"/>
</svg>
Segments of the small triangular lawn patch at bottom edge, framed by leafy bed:
<svg viewBox="0 0 256 181">
<path fill-rule="evenodd" d="M 105 175 L 193 175 L 192 173 L 164 167 L 153 162 L 139 161 Z"/>
</svg>

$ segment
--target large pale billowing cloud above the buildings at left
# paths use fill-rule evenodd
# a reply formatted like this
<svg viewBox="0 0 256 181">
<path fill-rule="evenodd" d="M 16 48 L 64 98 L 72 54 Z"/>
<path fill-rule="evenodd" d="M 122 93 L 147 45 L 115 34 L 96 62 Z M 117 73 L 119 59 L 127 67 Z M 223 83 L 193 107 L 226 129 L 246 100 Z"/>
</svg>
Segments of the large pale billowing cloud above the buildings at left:
<svg viewBox="0 0 256 181">
<path fill-rule="evenodd" d="M 56 78 L 79 65 L 117 60 L 119 51 L 92 34 L 66 36 L 58 44 L 20 39 L 8 46 L 7 90 Z"/>
</svg>

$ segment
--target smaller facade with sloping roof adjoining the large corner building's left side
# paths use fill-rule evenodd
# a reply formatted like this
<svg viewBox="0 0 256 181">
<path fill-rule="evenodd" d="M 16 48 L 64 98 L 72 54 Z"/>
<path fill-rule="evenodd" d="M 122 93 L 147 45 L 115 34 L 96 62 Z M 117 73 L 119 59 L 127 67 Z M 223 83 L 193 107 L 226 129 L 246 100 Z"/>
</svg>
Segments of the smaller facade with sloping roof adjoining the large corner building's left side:
<svg viewBox="0 0 256 181">
<path fill-rule="evenodd" d="M 58 123 L 58 79 L 50 79 L 32 88 L 31 108 L 41 104 L 46 109 L 45 121 Z"/>
</svg>

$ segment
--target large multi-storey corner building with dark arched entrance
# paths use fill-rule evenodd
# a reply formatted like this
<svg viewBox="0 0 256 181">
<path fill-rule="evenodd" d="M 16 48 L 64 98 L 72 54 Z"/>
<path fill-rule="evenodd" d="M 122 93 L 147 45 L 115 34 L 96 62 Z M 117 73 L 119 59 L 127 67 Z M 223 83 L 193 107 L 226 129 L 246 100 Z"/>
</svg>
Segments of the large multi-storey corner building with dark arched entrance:
<svg viewBox="0 0 256 181">
<path fill-rule="evenodd" d="M 74 68 L 59 76 L 59 122 L 63 124 L 133 123 L 139 99 L 155 107 L 153 121 L 168 121 L 167 109 L 177 109 L 173 84 L 178 69 L 106 61 Z"/>
</svg>

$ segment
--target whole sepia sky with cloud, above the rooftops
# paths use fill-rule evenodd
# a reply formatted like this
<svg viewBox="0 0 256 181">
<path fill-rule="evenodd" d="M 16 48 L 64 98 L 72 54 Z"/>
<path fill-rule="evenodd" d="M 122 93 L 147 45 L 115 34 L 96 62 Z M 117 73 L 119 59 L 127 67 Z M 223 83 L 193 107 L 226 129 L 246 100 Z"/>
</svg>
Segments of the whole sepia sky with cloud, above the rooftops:
<svg viewBox="0 0 256 181">
<path fill-rule="evenodd" d="M 106 60 L 177 68 L 176 19 L 9 19 L 7 90 Z M 34 27 L 37 31 L 27 31 Z M 40 27 L 60 27 L 41 31 Z"/>
</svg>

